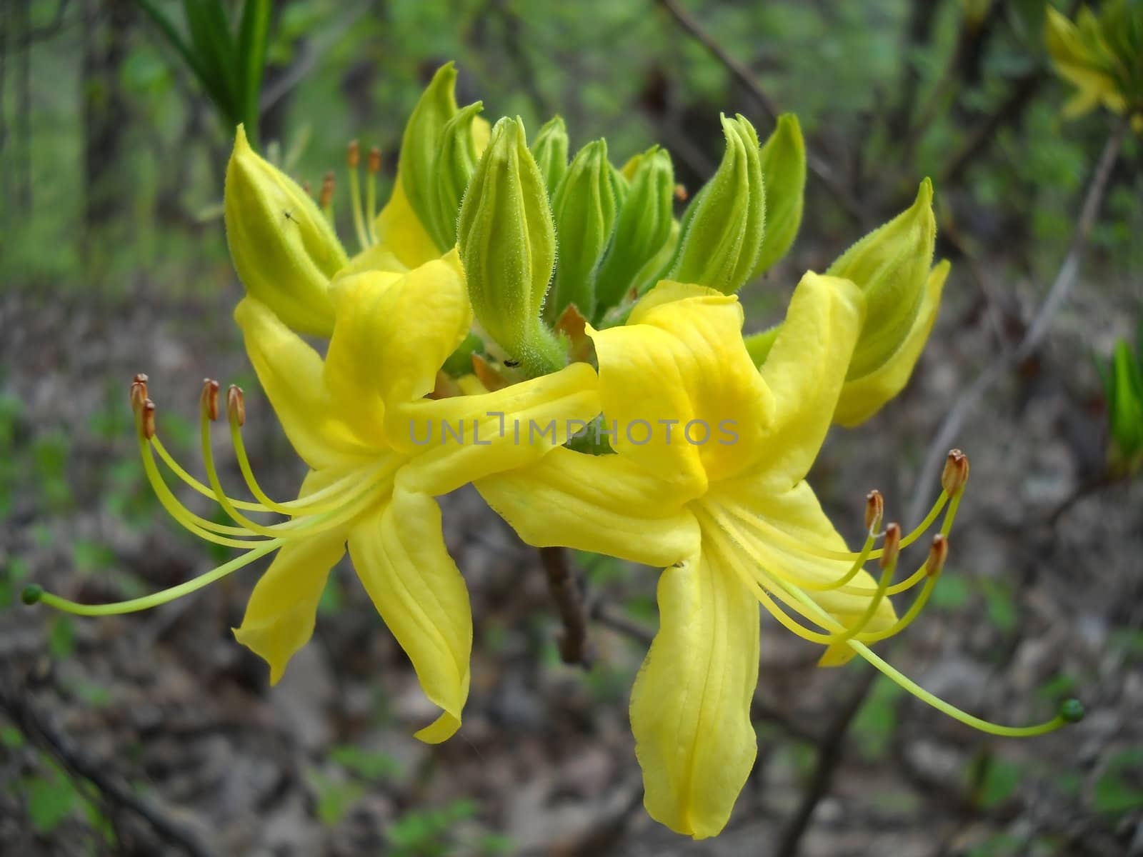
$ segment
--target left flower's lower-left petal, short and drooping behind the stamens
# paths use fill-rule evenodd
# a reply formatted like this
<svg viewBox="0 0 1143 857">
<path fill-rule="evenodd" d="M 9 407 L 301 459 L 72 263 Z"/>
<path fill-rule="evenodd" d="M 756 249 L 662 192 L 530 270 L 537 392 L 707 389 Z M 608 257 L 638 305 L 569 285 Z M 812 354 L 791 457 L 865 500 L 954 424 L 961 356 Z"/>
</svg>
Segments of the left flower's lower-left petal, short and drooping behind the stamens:
<svg viewBox="0 0 1143 857">
<path fill-rule="evenodd" d="M 311 471 L 298 497 L 331 484 L 344 473 Z M 345 530 L 329 530 L 283 545 L 250 593 L 234 639 L 270 664 L 277 684 L 294 652 L 313 635 L 318 601 L 329 570 L 345 554 Z"/>
</svg>

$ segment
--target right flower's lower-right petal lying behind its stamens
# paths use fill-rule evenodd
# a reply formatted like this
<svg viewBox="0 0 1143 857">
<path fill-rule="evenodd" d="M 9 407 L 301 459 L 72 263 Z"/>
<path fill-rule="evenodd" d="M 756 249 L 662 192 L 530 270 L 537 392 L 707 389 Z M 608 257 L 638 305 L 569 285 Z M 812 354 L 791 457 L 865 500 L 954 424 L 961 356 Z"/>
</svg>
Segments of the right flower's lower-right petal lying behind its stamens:
<svg viewBox="0 0 1143 857">
<path fill-rule="evenodd" d="M 719 486 L 718 494 L 710 498 L 710 503 L 724 507 L 736 505 L 761 522 L 757 527 L 745 523 L 735 526 L 733 515 L 721 518 L 724 522 L 730 522 L 728 530 L 735 530 L 730 532 L 732 538 L 740 545 L 746 545 L 754 555 L 764 560 L 761 567 L 753 569 L 754 578 L 767 592 L 794 609 L 801 607 L 801 602 L 782 585 L 784 575 L 818 584 L 832 583 L 842 577 L 852 566 L 845 560 L 822 559 L 790 546 L 790 540 L 793 540 L 808 548 L 849 550 L 822 511 L 808 482 L 799 482 L 792 489 L 778 494 L 761 481 L 736 480 L 734 483 Z M 778 530 L 777 536 L 774 530 Z M 905 575 L 898 571 L 897 576 Z M 863 569 L 847 585 L 872 590 L 877 587 L 877 580 Z M 802 591 L 845 626 L 852 626 L 862 618 L 872 598 L 869 594 L 847 592 L 845 588 Z M 896 620 L 893 602 L 886 598 L 878 606 L 865 631 L 882 631 Z M 853 649 L 848 646 L 831 647 L 823 665 L 845 663 L 850 657 Z"/>
</svg>

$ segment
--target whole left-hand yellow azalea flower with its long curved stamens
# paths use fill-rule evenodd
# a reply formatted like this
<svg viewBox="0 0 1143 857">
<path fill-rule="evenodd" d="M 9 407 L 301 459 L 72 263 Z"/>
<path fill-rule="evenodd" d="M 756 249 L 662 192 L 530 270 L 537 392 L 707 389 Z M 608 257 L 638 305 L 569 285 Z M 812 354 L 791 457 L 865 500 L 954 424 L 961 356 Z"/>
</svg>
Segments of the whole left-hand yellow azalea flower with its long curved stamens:
<svg viewBox="0 0 1143 857">
<path fill-rule="evenodd" d="M 234 630 L 239 642 L 269 663 L 277 682 L 313 633 L 329 570 L 347 544 L 369 598 L 408 654 L 425 695 L 442 710 L 417 732 L 435 743 L 461 723 L 472 617 L 433 497 L 534 462 L 561 443 L 560 428 L 521 439 L 505 431 L 505 421 L 565 426 L 569 419 L 590 419 L 599 411 L 596 374 L 577 363 L 494 393 L 424 398 L 471 322 L 455 254 L 403 275 L 343 278 L 330 294 L 336 320 L 325 360 L 257 301 L 246 298 L 235 311 L 258 379 L 294 449 L 310 466 L 294 502 L 271 500 L 255 480 L 239 431 L 245 406 L 235 387 L 227 397 L 231 433 L 256 502 L 233 499 L 219 483 L 209 436 L 218 410 L 215 382 L 207 382 L 202 395 L 208 484 L 187 474 L 159 441 L 154 406 L 144 401 L 145 382 L 133 389 L 143 462 L 160 500 L 191 531 L 247 553 L 175 591 L 120 604 L 40 598 L 85 615 L 126 612 L 198 588 L 277 551 Z M 163 483 L 154 452 L 192 488 L 216 499 L 234 523 L 211 522 L 181 505 Z M 267 526 L 251 520 L 250 511 L 289 520 Z"/>
</svg>

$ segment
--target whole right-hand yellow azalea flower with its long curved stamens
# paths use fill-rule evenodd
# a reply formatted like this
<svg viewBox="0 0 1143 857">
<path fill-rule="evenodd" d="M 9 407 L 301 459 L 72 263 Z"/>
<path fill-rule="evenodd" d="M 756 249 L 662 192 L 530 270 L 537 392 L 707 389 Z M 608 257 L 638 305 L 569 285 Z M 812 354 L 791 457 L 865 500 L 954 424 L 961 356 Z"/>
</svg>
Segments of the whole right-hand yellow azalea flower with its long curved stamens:
<svg viewBox="0 0 1143 857">
<path fill-rule="evenodd" d="M 942 492 L 912 532 L 882 530 L 866 498 L 866 538 L 852 552 L 805 481 L 833 416 L 863 321 L 848 280 L 807 274 L 761 369 L 743 345 L 735 297 L 662 282 L 624 327 L 589 330 L 599 357 L 604 430 L 617 455 L 555 449 L 475 481 L 533 545 L 563 545 L 664 568 L 660 627 L 631 694 L 648 812 L 696 839 L 719 833 L 753 766 L 750 703 L 759 615 L 826 647 L 822 665 L 861 655 L 905 690 L 993 735 L 1004 727 L 934 697 L 869 647 L 900 633 L 927 602 L 949 551 L 968 459 L 949 456 Z M 902 548 L 943 513 L 916 572 L 895 579 Z M 881 539 L 879 547 L 874 545 Z M 878 576 L 864 570 L 870 560 Z M 903 616 L 890 595 L 920 587 Z"/>
</svg>

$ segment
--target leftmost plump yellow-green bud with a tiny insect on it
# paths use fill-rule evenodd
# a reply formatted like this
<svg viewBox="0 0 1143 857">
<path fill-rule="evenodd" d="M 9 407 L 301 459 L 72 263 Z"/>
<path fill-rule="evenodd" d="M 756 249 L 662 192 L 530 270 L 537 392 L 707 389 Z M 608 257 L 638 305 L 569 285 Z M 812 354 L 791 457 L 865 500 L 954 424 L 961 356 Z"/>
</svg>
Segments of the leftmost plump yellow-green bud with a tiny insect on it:
<svg viewBox="0 0 1143 857">
<path fill-rule="evenodd" d="M 226 241 L 247 293 L 302 334 L 329 336 L 329 279 L 349 261 L 329 221 L 238 126 L 226 166 Z"/>
</svg>

